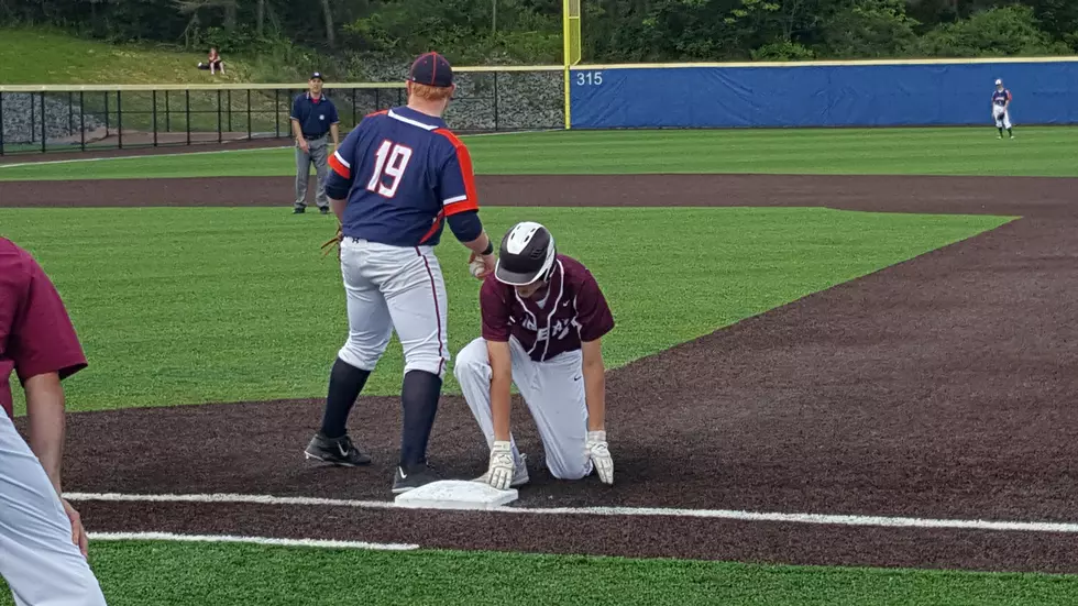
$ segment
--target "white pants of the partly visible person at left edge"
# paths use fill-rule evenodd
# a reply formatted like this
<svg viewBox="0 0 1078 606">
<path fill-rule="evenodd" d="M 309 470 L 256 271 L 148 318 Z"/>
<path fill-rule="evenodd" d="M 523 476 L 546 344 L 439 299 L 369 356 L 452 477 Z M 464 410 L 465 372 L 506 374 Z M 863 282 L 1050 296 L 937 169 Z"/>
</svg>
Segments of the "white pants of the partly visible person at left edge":
<svg viewBox="0 0 1078 606">
<path fill-rule="evenodd" d="M 18 606 L 103 606 L 45 470 L 0 412 L 0 575 Z"/>
</svg>

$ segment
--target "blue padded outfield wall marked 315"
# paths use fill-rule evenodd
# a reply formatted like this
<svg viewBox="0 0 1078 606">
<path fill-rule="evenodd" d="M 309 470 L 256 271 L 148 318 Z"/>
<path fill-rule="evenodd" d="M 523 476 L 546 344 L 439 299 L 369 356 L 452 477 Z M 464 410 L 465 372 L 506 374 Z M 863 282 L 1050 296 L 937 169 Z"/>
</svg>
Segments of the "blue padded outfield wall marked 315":
<svg viewBox="0 0 1078 606">
<path fill-rule="evenodd" d="M 993 125 L 996 79 L 1011 120 L 1078 123 L 1078 62 L 614 67 L 573 69 L 572 128 Z"/>
</svg>

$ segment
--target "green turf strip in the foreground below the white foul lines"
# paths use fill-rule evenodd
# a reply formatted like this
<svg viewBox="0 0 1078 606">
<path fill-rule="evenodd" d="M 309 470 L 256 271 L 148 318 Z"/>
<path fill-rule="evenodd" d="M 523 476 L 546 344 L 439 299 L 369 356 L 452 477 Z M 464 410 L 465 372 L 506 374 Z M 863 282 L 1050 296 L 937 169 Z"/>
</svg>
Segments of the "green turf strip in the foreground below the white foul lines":
<svg viewBox="0 0 1078 606">
<path fill-rule="evenodd" d="M 1078 596 L 1078 576 L 522 553 L 97 541 L 90 558 L 111 606 L 1044 606 Z"/>
</svg>

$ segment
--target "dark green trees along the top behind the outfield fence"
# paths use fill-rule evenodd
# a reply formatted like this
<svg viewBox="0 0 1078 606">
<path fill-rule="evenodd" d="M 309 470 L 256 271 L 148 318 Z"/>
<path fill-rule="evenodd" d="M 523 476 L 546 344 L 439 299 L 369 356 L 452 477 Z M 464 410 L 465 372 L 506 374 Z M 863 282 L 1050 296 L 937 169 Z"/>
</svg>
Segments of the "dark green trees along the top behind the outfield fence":
<svg viewBox="0 0 1078 606">
<path fill-rule="evenodd" d="M 1078 0 L 582 0 L 586 62 L 1065 55 Z M 561 0 L 0 0 L 0 20 L 113 42 L 334 56 L 437 48 L 560 63 Z M 0 41 L 2 43 L 2 41 Z"/>
</svg>

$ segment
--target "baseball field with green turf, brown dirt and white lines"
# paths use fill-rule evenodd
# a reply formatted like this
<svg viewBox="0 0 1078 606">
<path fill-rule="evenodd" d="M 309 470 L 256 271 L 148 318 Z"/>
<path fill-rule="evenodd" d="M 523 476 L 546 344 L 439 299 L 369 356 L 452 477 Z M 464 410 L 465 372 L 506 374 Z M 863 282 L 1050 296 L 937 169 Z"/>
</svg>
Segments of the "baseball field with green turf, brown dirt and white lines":
<svg viewBox="0 0 1078 606">
<path fill-rule="evenodd" d="M 304 460 L 346 320 L 290 148 L 4 158 L 89 359 L 65 488 L 109 603 L 1074 604 L 1078 129 L 1015 134 L 468 137 L 487 230 L 544 223 L 617 322 L 615 485 L 553 480 L 517 401 L 532 481 L 488 513 L 393 506 L 395 339 L 374 464 Z M 479 283 L 437 254 L 455 355 Z M 470 478 L 447 376 L 431 462 Z"/>
</svg>

